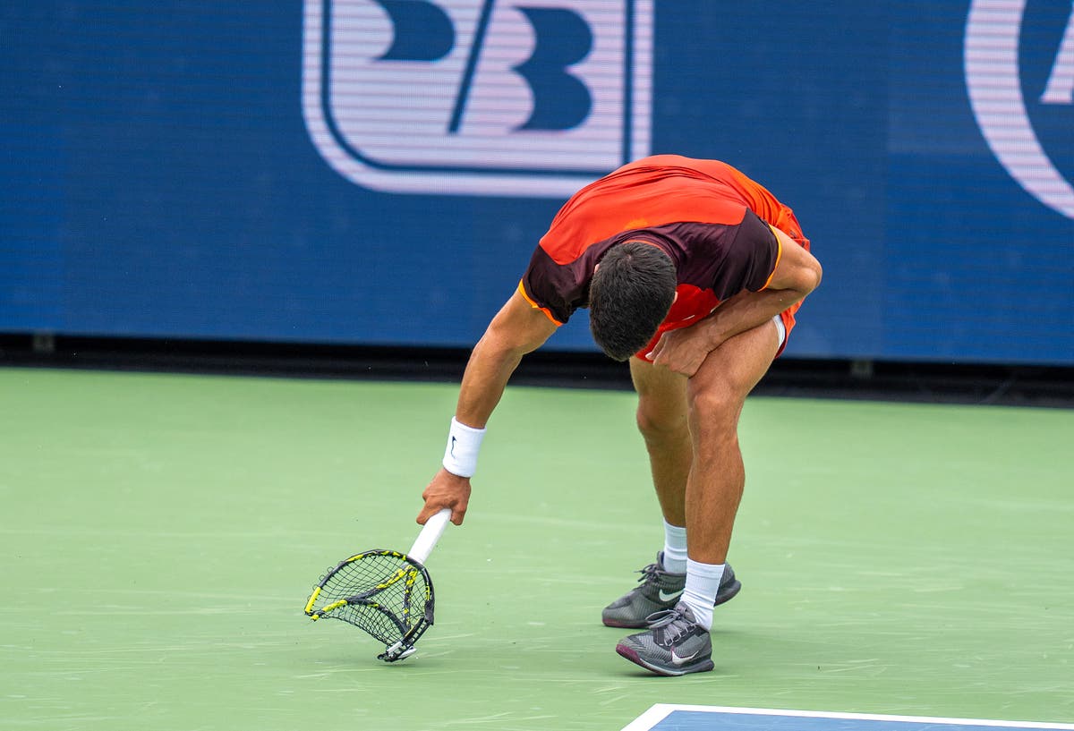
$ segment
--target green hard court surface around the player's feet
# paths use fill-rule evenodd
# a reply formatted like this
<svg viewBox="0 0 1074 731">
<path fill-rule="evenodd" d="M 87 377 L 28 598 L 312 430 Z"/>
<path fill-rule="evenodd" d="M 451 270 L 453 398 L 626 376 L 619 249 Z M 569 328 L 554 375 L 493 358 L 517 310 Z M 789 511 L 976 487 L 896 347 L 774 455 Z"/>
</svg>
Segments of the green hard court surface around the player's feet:
<svg viewBox="0 0 1074 731">
<path fill-rule="evenodd" d="M 628 393 L 508 390 L 402 662 L 303 613 L 406 550 L 455 388 L 0 369 L 0 727 L 619 730 L 654 704 L 1074 721 L 1074 411 L 754 398 L 716 670 L 600 609 L 662 539 Z"/>
</svg>

